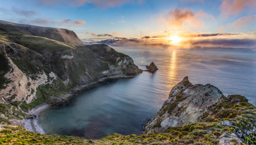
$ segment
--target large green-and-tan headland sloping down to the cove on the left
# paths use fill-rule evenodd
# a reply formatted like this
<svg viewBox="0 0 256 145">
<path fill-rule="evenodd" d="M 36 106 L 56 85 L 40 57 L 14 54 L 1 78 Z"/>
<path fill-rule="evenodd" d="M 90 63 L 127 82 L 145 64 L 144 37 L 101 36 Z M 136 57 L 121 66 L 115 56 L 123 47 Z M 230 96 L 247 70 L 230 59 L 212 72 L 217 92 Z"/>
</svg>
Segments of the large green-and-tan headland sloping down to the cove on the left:
<svg viewBox="0 0 256 145">
<path fill-rule="evenodd" d="M 71 43 L 55 41 L 59 39 L 55 33 L 48 37 L 55 40 L 38 37 L 44 36 L 41 29 L 52 31 L 0 23 L 0 101 L 16 107 L 18 118 L 37 105 L 63 103 L 73 92 L 107 79 L 131 78 L 142 72 L 132 58 L 107 45 L 72 44 L 74 39 L 68 41 Z M 1 123 L 1 117 L 8 120 L 15 113 L 0 114 Z"/>
</svg>

